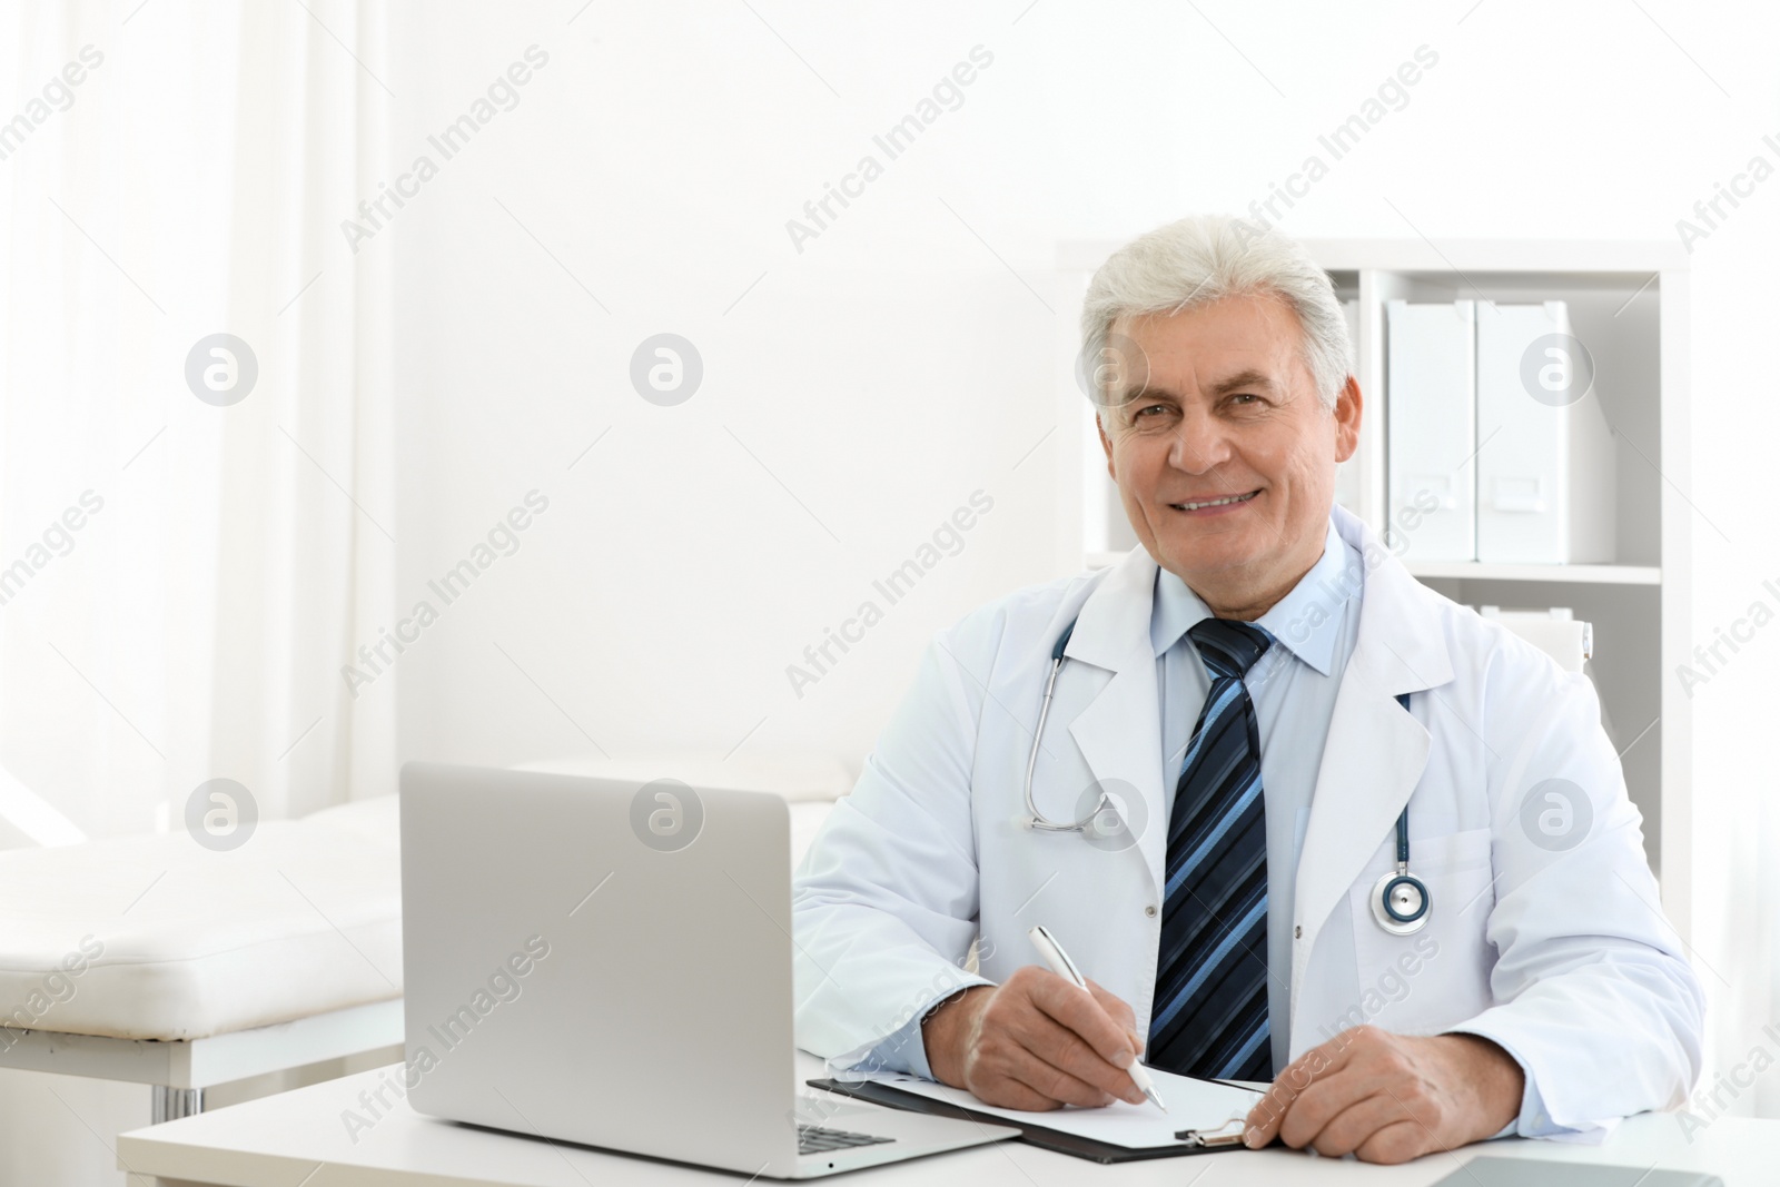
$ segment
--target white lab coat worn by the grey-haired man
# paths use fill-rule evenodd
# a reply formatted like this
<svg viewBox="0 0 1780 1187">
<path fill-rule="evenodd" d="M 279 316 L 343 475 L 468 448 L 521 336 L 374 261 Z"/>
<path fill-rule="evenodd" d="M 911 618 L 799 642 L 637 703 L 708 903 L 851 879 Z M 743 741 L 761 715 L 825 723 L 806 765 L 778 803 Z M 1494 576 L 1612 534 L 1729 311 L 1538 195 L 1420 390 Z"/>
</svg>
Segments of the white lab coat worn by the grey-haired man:
<svg viewBox="0 0 1780 1187">
<path fill-rule="evenodd" d="M 1588 1132 L 1679 1105 L 1702 1064 L 1703 995 L 1659 908 L 1593 685 L 1419 584 L 1355 516 L 1333 516 L 1367 575 L 1298 867 L 1290 1057 L 1360 1021 L 1461 1027 L 1531 1070 L 1556 1125 Z M 801 1046 L 858 1061 L 977 981 L 961 970 L 972 940 L 981 979 L 1038 963 L 1027 929 L 1040 922 L 1148 1034 L 1177 774 L 1161 767 L 1155 571 L 1136 548 L 934 639 L 799 867 Z M 1034 799 L 1073 820 L 1096 783 L 1130 788 L 1136 844 L 1121 849 L 1022 824 L 1031 730 L 1072 619 Z M 1426 692 L 1413 715 L 1399 692 Z M 1568 835 L 1563 799 L 1541 788 L 1527 806 L 1554 778 L 1582 788 Z M 1399 938 L 1369 902 L 1394 868 L 1404 803 L 1412 872 L 1433 908 Z"/>
</svg>

